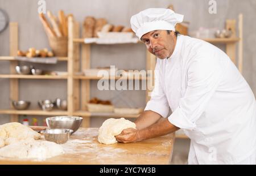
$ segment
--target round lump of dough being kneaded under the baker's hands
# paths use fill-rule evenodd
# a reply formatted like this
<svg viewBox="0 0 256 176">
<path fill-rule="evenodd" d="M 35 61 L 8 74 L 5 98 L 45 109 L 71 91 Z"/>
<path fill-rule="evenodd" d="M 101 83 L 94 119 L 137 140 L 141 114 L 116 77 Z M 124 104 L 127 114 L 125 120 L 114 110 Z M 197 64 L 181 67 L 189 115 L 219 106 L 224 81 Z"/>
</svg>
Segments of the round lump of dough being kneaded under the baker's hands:
<svg viewBox="0 0 256 176">
<path fill-rule="evenodd" d="M 128 121 L 125 118 L 106 119 L 106 121 L 102 123 L 102 126 L 98 130 L 98 141 L 103 144 L 117 143 L 115 136 L 121 134 L 121 132 L 126 128 L 136 129 L 136 125 L 135 123 Z"/>
</svg>

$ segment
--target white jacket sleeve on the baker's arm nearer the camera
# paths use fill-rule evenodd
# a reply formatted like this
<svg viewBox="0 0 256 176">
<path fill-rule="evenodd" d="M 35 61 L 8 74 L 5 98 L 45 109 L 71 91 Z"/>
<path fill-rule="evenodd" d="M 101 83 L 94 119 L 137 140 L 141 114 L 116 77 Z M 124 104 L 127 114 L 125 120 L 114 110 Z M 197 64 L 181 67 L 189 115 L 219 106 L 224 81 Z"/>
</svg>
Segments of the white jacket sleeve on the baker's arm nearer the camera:
<svg viewBox="0 0 256 176">
<path fill-rule="evenodd" d="M 224 61 L 225 62 L 225 61 Z M 168 117 L 173 125 L 193 130 L 224 75 L 224 63 L 216 57 L 198 57 L 189 65 L 188 86 L 179 106 Z"/>
</svg>

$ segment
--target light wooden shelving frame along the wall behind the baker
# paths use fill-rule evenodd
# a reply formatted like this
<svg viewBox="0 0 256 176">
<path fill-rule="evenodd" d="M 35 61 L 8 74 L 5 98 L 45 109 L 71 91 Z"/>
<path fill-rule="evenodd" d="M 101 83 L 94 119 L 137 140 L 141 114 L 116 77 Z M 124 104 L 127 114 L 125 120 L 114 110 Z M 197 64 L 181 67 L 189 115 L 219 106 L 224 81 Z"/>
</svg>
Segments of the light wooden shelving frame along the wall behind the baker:
<svg viewBox="0 0 256 176">
<path fill-rule="evenodd" d="M 201 38 L 212 44 L 224 44 L 226 45 L 226 54 L 236 64 L 236 45 L 239 42 L 238 48 L 238 70 L 242 72 L 242 14 L 239 15 L 239 35 L 236 36 L 236 20 L 226 20 L 226 29 L 232 29 L 233 36 L 230 38 Z M 81 63 L 79 45 L 82 44 Z M 142 44 L 138 42 L 137 44 Z M 137 45 L 134 44 L 134 45 Z M 18 115 L 79 115 L 84 118 L 83 127 L 89 127 L 90 117 L 106 117 L 106 118 L 137 118 L 139 115 L 129 114 L 115 114 L 115 113 L 90 113 L 86 110 L 86 104 L 90 99 L 90 80 L 99 80 L 97 76 L 81 76 L 76 75 L 81 70 L 90 68 L 90 48 L 91 45 L 97 44 L 85 44 L 84 38 L 79 37 L 79 23 L 72 17 L 68 18 L 68 57 L 57 57 L 57 61 L 65 61 L 68 66 L 68 74 L 61 76 L 53 75 L 16 75 L 15 66 L 18 65 L 18 61 L 15 60 L 15 55 L 18 51 L 18 24 L 10 23 L 10 56 L 0 57 L 0 61 L 10 62 L 10 74 L 0 75 L 0 78 L 10 79 L 10 99 L 18 100 L 19 94 L 19 79 L 65 79 L 67 80 L 67 100 L 68 110 L 60 111 L 43 111 L 43 110 L 0 110 L 0 114 L 10 114 L 11 122 L 18 121 Z M 146 70 L 154 71 L 156 58 L 146 50 Z M 148 85 L 154 85 L 154 74 L 148 75 L 146 78 L 129 78 L 133 80 L 146 80 Z M 120 77 L 114 77 L 109 79 L 122 79 Z M 150 81 L 153 81 L 152 83 Z M 82 89 L 80 90 L 80 85 Z M 148 87 L 147 87 L 148 88 Z M 146 102 L 150 100 L 150 89 L 146 90 Z M 11 106 L 11 105 L 10 105 Z M 176 138 L 187 139 L 185 135 L 177 135 Z"/>
</svg>

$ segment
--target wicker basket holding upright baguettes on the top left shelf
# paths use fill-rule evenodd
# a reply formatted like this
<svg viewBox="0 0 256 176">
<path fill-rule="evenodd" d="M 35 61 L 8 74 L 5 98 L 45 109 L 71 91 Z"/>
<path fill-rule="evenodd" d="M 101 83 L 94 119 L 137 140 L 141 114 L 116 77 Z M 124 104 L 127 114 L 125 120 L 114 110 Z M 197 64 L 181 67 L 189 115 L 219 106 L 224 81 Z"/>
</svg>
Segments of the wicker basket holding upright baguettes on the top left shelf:
<svg viewBox="0 0 256 176">
<path fill-rule="evenodd" d="M 57 57 L 68 56 L 68 37 L 50 37 L 48 36 L 49 45 L 53 54 Z"/>
</svg>

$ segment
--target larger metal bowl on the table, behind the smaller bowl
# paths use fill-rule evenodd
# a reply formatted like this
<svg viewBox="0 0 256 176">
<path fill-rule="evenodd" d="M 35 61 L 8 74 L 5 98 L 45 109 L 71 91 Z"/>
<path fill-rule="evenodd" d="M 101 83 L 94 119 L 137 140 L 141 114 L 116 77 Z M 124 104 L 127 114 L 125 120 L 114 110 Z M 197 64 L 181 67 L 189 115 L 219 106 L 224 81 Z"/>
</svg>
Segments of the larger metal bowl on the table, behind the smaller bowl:
<svg viewBox="0 0 256 176">
<path fill-rule="evenodd" d="M 82 124 L 82 117 L 76 116 L 56 116 L 46 118 L 47 126 L 52 128 L 66 128 L 71 129 L 73 132 L 76 132 Z"/>
</svg>

